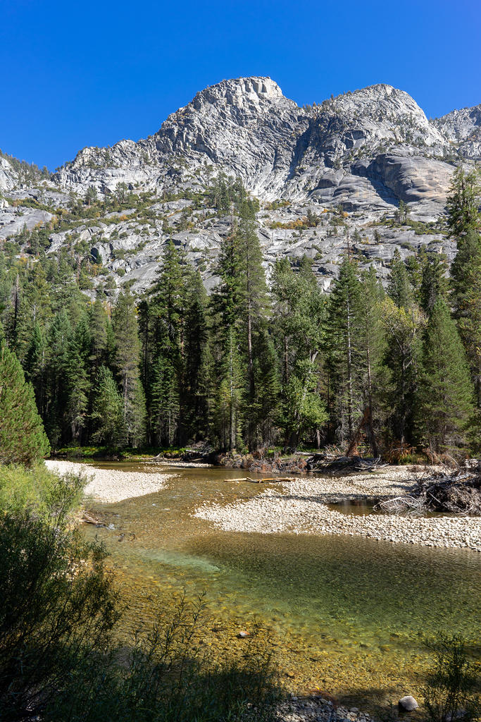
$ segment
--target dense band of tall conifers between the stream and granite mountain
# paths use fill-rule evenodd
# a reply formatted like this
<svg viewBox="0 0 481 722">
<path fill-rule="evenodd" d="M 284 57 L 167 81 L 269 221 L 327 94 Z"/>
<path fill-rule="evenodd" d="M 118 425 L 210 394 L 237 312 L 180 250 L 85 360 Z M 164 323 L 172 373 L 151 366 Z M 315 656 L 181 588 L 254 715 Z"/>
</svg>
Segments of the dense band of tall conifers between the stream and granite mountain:
<svg viewBox="0 0 481 722">
<path fill-rule="evenodd" d="M 477 178 L 454 173 L 451 267 L 439 253 L 402 260 L 397 252 L 386 288 L 353 253 L 329 293 L 305 257 L 279 259 L 266 274 L 258 202 L 226 178 L 207 191 L 231 217 L 210 295 L 172 240 L 141 297 L 128 285 L 116 297 L 112 279 L 87 296 L 94 261 L 73 245 L 47 253 L 45 229 L 4 241 L 1 335 L 31 384 L 50 447 L 352 442 L 392 461 L 416 450 L 479 451 Z M 88 213 L 100 201 L 91 193 L 82 202 Z"/>
</svg>

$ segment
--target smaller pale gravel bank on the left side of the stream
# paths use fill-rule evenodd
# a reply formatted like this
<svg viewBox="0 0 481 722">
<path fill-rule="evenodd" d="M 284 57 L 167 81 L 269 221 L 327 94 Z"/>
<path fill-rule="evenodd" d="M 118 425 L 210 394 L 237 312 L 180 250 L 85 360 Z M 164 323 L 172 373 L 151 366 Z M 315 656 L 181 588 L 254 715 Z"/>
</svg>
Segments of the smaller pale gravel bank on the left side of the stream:
<svg viewBox="0 0 481 722">
<path fill-rule="evenodd" d="M 142 471 L 118 471 L 118 469 L 94 469 L 88 464 L 73 461 L 45 461 L 56 474 L 85 474 L 89 479 L 84 493 L 103 503 L 144 496 L 159 491 L 175 474 L 144 473 Z"/>
</svg>

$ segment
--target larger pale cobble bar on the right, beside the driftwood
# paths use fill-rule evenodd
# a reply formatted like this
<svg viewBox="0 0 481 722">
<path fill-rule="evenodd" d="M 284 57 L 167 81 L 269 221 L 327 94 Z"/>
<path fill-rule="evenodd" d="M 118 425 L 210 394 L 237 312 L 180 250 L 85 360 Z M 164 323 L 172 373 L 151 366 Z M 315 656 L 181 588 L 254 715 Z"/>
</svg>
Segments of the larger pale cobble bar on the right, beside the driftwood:
<svg viewBox="0 0 481 722">
<path fill-rule="evenodd" d="M 353 516 L 326 506 L 355 498 L 400 496 L 412 483 L 410 471 L 399 467 L 353 477 L 299 479 L 283 482 L 247 501 L 229 505 L 206 503 L 195 510 L 195 516 L 212 521 L 225 531 L 348 534 L 425 547 L 467 547 L 481 552 L 480 517 Z"/>
</svg>

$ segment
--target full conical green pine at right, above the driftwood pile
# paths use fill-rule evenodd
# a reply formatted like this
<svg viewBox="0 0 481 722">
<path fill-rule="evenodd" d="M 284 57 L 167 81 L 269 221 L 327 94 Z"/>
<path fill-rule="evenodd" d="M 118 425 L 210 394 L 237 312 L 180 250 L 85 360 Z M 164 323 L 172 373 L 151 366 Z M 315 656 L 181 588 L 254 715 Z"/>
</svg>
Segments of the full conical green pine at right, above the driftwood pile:
<svg viewBox="0 0 481 722">
<path fill-rule="evenodd" d="M 467 441 L 473 388 L 461 339 L 449 309 L 438 298 L 425 332 L 418 393 L 417 425 L 431 451 L 453 451 Z"/>
</svg>

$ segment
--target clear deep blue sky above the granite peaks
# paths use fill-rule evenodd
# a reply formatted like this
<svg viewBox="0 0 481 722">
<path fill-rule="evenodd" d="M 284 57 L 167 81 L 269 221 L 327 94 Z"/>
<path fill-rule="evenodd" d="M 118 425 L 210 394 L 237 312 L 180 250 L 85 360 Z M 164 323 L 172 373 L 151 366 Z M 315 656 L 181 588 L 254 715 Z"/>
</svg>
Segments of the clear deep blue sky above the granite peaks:
<svg viewBox="0 0 481 722">
<path fill-rule="evenodd" d="M 386 82 L 440 116 L 481 103 L 480 48 L 480 0 L 0 0 L 0 148 L 53 169 L 247 75 L 299 105 Z"/>
</svg>

